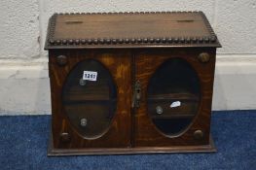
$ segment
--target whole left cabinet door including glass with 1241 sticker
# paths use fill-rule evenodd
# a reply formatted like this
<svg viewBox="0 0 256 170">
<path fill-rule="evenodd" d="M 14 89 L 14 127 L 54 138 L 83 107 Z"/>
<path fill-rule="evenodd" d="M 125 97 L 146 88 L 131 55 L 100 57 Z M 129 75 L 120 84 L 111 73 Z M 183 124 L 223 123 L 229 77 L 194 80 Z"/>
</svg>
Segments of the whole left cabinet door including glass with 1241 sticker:
<svg viewBox="0 0 256 170">
<path fill-rule="evenodd" d="M 66 56 L 59 66 L 56 58 Z M 131 57 L 118 51 L 51 53 L 55 148 L 130 145 Z"/>
</svg>

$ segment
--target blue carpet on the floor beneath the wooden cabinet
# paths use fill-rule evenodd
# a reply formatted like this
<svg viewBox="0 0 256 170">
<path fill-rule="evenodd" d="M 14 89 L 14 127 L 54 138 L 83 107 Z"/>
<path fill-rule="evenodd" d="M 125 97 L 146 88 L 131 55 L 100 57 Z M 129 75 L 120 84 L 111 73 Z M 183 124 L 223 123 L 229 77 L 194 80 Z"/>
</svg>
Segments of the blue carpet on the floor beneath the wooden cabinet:
<svg viewBox="0 0 256 170">
<path fill-rule="evenodd" d="M 0 117 L 0 170 L 256 169 L 256 111 L 214 112 L 218 153 L 47 157 L 50 116 Z"/>
</svg>

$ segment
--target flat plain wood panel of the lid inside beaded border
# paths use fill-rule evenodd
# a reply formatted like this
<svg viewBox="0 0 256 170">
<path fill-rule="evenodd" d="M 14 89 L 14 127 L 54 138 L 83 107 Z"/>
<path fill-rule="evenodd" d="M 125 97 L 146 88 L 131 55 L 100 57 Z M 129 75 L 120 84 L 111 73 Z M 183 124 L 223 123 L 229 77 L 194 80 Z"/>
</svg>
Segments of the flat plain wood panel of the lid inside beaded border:
<svg viewBox="0 0 256 170">
<path fill-rule="evenodd" d="M 73 31 L 74 29 L 76 31 Z M 104 37 L 119 39 L 152 36 L 201 37 L 210 36 L 210 33 L 204 24 L 203 18 L 198 13 L 95 14 L 56 17 L 55 39 L 94 39 Z"/>
</svg>

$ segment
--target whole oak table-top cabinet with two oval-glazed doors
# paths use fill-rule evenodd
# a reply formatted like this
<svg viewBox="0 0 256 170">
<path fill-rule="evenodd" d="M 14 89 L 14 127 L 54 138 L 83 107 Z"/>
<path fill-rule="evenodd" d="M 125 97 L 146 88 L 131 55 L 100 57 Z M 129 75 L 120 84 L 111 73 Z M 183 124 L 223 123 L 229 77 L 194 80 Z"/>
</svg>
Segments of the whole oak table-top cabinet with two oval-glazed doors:
<svg viewBox="0 0 256 170">
<path fill-rule="evenodd" d="M 201 12 L 54 15 L 49 155 L 214 152 L 218 47 Z"/>
</svg>

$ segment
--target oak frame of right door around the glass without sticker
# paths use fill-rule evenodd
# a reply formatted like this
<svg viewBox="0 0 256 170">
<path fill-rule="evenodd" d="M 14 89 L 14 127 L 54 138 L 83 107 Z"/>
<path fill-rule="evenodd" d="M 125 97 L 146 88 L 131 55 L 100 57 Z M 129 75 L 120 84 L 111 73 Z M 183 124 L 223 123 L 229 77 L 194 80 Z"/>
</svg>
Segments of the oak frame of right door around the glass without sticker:
<svg viewBox="0 0 256 170">
<path fill-rule="evenodd" d="M 208 52 L 210 60 L 201 63 L 198 55 Z M 147 87 L 149 79 L 156 69 L 169 58 L 179 57 L 192 65 L 201 81 L 201 102 L 196 118 L 184 133 L 175 137 L 165 136 L 156 128 L 147 111 Z M 212 88 L 215 67 L 215 49 L 182 49 L 182 50 L 148 50 L 136 53 L 136 80 L 142 86 L 141 105 L 135 115 L 135 147 L 165 147 L 165 146 L 187 146 L 205 145 L 209 143 L 210 114 Z M 168 74 L 168 73 L 166 73 Z M 194 132 L 201 129 L 204 136 L 196 140 Z"/>
</svg>

